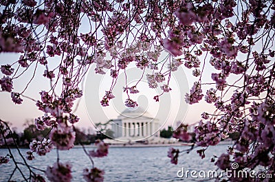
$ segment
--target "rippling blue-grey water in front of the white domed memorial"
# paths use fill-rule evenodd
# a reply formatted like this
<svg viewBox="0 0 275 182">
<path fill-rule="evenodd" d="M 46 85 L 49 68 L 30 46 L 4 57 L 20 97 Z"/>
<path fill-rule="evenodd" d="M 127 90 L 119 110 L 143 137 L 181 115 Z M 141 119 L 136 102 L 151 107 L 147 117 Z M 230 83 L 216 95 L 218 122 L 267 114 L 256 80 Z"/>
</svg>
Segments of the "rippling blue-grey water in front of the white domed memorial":
<svg viewBox="0 0 275 182">
<path fill-rule="evenodd" d="M 184 150 L 188 147 L 175 147 Z M 210 163 L 213 155 L 219 157 L 227 149 L 226 145 L 208 148 L 206 158 L 201 159 L 196 150 L 190 154 L 181 154 L 177 165 L 171 164 L 167 156 L 168 147 L 148 148 L 110 148 L 107 157 L 94 159 L 95 166 L 105 171 L 104 181 L 203 181 L 203 179 L 180 179 L 177 171 L 184 167 L 185 170 L 215 170 L 217 166 Z M 88 148 L 91 150 L 91 148 Z M 16 152 L 15 149 L 12 151 Z M 25 155 L 27 149 L 21 152 Z M 0 149 L 0 155 L 6 155 L 8 150 Z M 16 155 L 16 153 L 15 153 Z M 61 162 L 70 161 L 73 165 L 73 181 L 84 181 L 82 172 L 84 168 L 91 168 L 91 162 L 81 148 L 72 148 L 60 152 Z M 44 157 L 37 156 L 30 165 L 45 170 L 48 165 L 56 161 L 56 150 Z M 0 166 L 0 181 L 8 181 L 14 166 L 12 161 Z M 19 173 L 13 180 L 21 181 Z"/>
</svg>

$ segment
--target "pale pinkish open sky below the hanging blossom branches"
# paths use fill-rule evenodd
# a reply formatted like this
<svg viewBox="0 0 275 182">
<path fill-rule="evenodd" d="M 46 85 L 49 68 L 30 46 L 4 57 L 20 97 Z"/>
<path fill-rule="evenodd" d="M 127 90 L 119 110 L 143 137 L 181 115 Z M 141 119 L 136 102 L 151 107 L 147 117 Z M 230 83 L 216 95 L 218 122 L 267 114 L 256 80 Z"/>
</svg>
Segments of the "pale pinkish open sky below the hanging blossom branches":
<svg viewBox="0 0 275 182">
<path fill-rule="evenodd" d="M 1 53 L 0 62 L 1 65 L 12 64 L 19 58 L 19 54 Z M 55 62 L 49 62 L 50 67 L 56 65 Z M 34 73 L 34 69 L 36 72 Z M 209 67 L 210 68 L 210 67 Z M 28 71 L 25 71 L 23 75 L 13 82 L 15 92 L 21 92 L 25 89 L 25 86 L 31 80 L 28 88 L 23 95 L 26 95 L 34 100 L 40 100 L 40 91 L 47 91 L 50 88 L 50 82 L 44 78 L 44 67 L 41 65 L 31 65 Z M 140 79 L 140 71 L 135 68 L 134 65 L 129 65 L 127 71 L 127 82 L 129 85 L 133 85 Z M 209 72 L 209 73 L 208 73 Z M 206 76 L 209 76 L 210 70 L 206 69 Z M 0 77 L 3 74 L 0 73 Z M 146 109 L 153 117 L 161 121 L 162 127 L 175 126 L 176 122 L 184 122 L 186 124 L 192 124 L 201 119 L 200 115 L 203 111 L 212 111 L 210 104 L 202 101 L 200 104 L 189 105 L 186 104 L 184 98 L 186 92 L 189 92 L 192 87 L 192 83 L 196 80 L 190 70 L 185 67 L 180 67 L 178 71 L 173 72 L 170 88 L 172 91 L 165 93 L 159 98 L 159 102 L 153 100 L 153 96 L 157 93 L 161 93 L 160 89 L 149 89 L 146 82 L 146 76 L 137 85 L 137 89 L 140 93 L 131 95 L 131 99 L 137 100 L 139 106 L 142 109 Z M 76 100 L 78 108 L 76 115 L 80 118 L 80 122 L 76 124 L 79 128 L 91 128 L 97 122 L 107 122 L 111 119 L 116 119 L 118 115 L 126 106 L 124 106 L 124 100 L 126 100 L 126 94 L 123 93 L 122 87 L 124 87 L 124 73 L 119 75 L 118 82 L 113 90 L 115 98 L 111 101 L 110 106 L 102 107 L 100 100 L 106 90 L 110 87 L 109 73 L 106 75 L 98 75 L 94 73 L 94 67 L 91 67 L 87 77 L 84 80 L 83 98 Z M 17 130 L 23 130 L 23 124 L 27 120 L 34 120 L 37 117 L 44 115 L 42 111 L 39 111 L 36 107 L 36 103 L 28 98 L 23 98 L 23 103 L 18 105 L 14 104 L 10 98 L 10 93 L 0 92 L 0 119 L 12 123 L 12 127 L 16 127 Z M 74 108 L 75 109 L 75 108 Z"/>
</svg>

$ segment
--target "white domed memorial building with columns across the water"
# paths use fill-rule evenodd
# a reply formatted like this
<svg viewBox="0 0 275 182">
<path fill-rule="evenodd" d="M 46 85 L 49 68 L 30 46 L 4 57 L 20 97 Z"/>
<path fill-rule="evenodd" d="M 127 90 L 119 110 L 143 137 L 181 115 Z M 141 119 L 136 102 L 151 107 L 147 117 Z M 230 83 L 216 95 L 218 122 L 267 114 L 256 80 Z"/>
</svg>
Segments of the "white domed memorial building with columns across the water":
<svg viewBox="0 0 275 182">
<path fill-rule="evenodd" d="M 159 120 L 144 109 L 125 109 L 118 119 L 112 120 L 111 130 L 115 138 L 142 139 L 154 134 L 159 136 Z"/>
</svg>

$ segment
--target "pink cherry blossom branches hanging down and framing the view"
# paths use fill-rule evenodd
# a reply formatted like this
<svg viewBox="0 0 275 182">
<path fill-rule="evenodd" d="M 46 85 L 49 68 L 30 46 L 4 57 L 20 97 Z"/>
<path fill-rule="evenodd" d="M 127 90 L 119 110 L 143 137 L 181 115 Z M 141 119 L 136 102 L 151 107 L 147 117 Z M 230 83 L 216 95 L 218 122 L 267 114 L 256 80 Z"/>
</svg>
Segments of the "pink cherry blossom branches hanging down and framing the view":
<svg viewBox="0 0 275 182">
<path fill-rule="evenodd" d="M 173 89 L 169 86 L 173 71 L 181 65 L 191 69 L 197 81 L 186 93 L 186 102 L 196 104 L 204 98 L 216 109 L 201 113 L 202 120 L 195 128 L 194 143 L 203 147 L 197 150 L 199 155 L 204 157 L 209 146 L 219 144 L 231 133 L 239 133 L 233 146 L 213 159 L 215 165 L 221 170 L 232 168 L 234 162 L 239 163 L 237 170 L 264 166 L 265 172 L 274 174 L 274 1 L 2 0 L 0 4 L 0 52 L 21 55 L 19 60 L 1 65 L 1 89 L 10 92 L 14 104 L 33 100 L 37 109 L 45 113 L 36 118 L 37 129 L 52 128 L 50 140 L 32 141 L 28 157 L 21 155 L 30 177 L 25 177 L 17 161 L 10 158 L 26 181 L 45 181 L 45 177 L 50 181 L 71 181 L 70 163 L 57 159 L 52 167 L 43 170 L 42 177 L 25 159 L 33 159 L 34 152 L 47 155 L 54 147 L 69 150 L 74 146 L 74 124 L 80 118 L 72 107 L 83 95 L 80 83 L 94 65 L 96 73 L 110 71 L 113 79 L 100 102 L 102 106 L 109 106 L 115 97 L 112 90 L 118 74 L 122 72 L 126 77 L 129 65 L 149 69 L 151 73 L 140 78 L 146 77 L 148 87 L 159 87 L 162 94 Z M 168 56 L 163 58 L 163 52 Z M 53 60 L 56 67 L 51 66 Z M 32 65 L 34 74 L 43 75 L 51 85 L 48 91 L 37 90 L 40 100 L 25 95 L 29 84 L 22 91 L 13 84 Z M 37 67 L 45 71 L 41 73 Z M 208 69 L 213 70 L 211 82 L 204 80 L 209 76 Z M 138 105 L 131 98 L 139 92 L 137 88 L 125 83 L 126 106 Z M 159 102 L 162 94 L 152 97 Z M 0 138 L 8 146 L 5 136 L 11 130 L 3 121 L 0 128 Z M 180 125 L 173 136 L 190 139 L 186 125 Z M 91 169 L 83 171 L 86 181 L 103 180 L 104 171 L 94 167 L 92 157 L 106 156 L 108 146 L 102 141 L 97 146 L 96 151 L 85 150 L 92 163 Z M 177 164 L 180 152 L 186 151 L 168 151 L 172 163 Z M 12 154 L 1 157 L 0 164 L 9 162 L 9 156 Z M 244 181 L 233 177 L 229 180 Z"/>
</svg>

